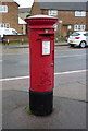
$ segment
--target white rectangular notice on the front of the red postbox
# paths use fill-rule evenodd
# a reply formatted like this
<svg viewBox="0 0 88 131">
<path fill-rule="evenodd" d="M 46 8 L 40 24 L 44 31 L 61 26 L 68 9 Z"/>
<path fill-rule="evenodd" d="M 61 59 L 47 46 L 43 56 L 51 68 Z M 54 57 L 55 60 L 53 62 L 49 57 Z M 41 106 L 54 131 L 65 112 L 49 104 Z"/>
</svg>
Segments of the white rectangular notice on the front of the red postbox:
<svg viewBox="0 0 88 131">
<path fill-rule="evenodd" d="M 42 40 L 42 56 L 50 55 L 50 40 Z"/>
</svg>

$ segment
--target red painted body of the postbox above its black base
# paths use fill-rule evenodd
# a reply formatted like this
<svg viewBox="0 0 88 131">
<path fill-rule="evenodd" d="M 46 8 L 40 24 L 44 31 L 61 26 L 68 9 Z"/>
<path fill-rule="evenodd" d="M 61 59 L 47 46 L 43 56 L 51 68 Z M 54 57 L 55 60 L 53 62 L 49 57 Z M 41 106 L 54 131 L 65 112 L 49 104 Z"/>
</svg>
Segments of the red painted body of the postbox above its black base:
<svg viewBox="0 0 88 131">
<path fill-rule="evenodd" d="M 54 87 L 54 29 L 55 17 L 30 17 L 29 26 L 30 90 L 48 92 Z M 49 32 L 46 33 L 46 29 Z M 50 40 L 50 55 L 42 56 L 42 41 Z"/>
</svg>

